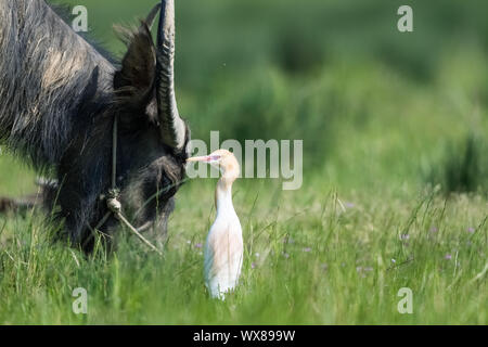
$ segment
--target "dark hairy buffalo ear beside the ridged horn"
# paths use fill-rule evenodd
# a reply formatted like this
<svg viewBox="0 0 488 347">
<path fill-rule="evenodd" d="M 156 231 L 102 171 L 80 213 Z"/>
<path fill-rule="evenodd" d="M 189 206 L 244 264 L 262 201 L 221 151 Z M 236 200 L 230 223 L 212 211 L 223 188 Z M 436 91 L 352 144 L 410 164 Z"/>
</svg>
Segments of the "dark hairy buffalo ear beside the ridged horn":
<svg viewBox="0 0 488 347">
<path fill-rule="evenodd" d="M 151 31 L 145 22 L 142 22 L 137 31 L 120 28 L 118 31 L 128 50 L 121 68 L 114 75 L 115 91 L 119 95 L 142 101 L 152 94 L 155 80 L 156 50 Z"/>
</svg>

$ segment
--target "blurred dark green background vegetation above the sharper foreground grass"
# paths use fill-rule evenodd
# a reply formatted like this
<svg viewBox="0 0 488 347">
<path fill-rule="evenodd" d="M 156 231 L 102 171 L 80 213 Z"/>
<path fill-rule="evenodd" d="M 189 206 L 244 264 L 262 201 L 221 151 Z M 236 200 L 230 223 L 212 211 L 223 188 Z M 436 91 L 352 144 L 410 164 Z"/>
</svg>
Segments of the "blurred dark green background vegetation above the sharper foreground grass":
<svg viewBox="0 0 488 347">
<path fill-rule="evenodd" d="M 137 25 L 156 3 L 55 2 L 86 5 L 90 35 L 117 57 L 125 48 L 112 25 Z M 401 4 L 413 8 L 413 33 L 397 29 Z M 176 7 L 177 92 L 193 138 L 304 139 L 305 175 L 347 187 L 486 189 L 488 2 Z"/>
</svg>

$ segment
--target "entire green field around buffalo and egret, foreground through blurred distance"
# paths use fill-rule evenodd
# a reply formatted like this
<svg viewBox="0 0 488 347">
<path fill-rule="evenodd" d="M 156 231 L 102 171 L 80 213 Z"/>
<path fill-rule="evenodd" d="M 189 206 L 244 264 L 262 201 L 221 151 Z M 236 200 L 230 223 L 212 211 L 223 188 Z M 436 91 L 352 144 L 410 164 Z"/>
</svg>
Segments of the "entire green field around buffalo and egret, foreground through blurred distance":
<svg viewBox="0 0 488 347">
<path fill-rule="evenodd" d="M 85 2 L 94 36 L 121 52 L 110 23 L 154 1 Z M 52 243 L 39 211 L 1 215 L 0 323 L 487 324 L 487 4 L 415 2 L 408 36 L 395 1 L 198 3 L 177 3 L 194 138 L 304 139 L 301 189 L 236 181 L 245 258 L 224 303 L 202 273 L 215 180 L 181 188 L 163 258 L 123 229 L 114 253 L 87 258 Z M 2 151 L 0 194 L 35 191 Z M 88 314 L 72 310 L 77 287 Z M 402 287 L 411 314 L 397 310 Z"/>
</svg>

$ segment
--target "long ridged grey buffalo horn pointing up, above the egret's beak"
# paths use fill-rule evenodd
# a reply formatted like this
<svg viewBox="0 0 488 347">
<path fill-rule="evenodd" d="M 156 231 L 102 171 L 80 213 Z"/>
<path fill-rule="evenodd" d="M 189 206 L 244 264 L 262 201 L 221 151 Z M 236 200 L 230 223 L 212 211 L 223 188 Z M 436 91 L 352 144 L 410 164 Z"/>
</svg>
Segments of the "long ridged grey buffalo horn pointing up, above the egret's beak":
<svg viewBox="0 0 488 347">
<path fill-rule="evenodd" d="M 156 99 L 163 142 L 182 149 L 185 125 L 180 118 L 175 95 L 175 1 L 162 0 L 157 30 Z"/>
</svg>

